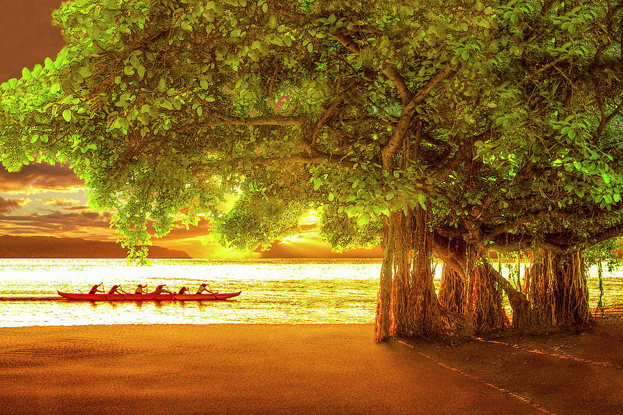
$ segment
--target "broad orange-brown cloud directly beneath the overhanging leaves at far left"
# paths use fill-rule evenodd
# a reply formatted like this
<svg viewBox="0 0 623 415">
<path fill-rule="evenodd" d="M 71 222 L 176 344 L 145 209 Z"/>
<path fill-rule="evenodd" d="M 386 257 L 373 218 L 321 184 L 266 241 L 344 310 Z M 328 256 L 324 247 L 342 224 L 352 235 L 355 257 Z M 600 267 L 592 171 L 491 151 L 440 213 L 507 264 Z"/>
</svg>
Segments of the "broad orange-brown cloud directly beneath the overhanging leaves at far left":
<svg viewBox="0 0 623 415">
<path fill-rule="evenodd" d="M 33 194 L 46 191 L 75 193 L 84 190 L 84 181 L 67 165 L 35 163 L 19 172 L 9 173 L 0 168 L 0 193 Z"/>
</svg>

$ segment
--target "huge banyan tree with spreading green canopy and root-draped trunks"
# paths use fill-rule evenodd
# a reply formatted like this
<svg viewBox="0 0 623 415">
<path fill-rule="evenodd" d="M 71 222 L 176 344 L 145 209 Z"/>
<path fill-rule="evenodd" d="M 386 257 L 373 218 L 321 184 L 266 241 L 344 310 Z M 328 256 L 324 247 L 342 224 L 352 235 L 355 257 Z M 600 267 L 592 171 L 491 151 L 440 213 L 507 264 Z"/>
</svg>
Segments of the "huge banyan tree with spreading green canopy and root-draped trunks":
<svg viewBox="0 0 623 415">
<path fill-rule="evenodd" d="M 581 290 L 559 275 L 622 226 L 622 8 L 69 1 L 53 16 L 67 46 L 2 85 L 0 160 L 70 162 L 135 257 L 148 221 L 160 237 L 205 215 L 253 250 L 319 210 L 336 248 L 383 246 L 377 341 L 503 329 L 502 293 L 514 326 L 578 321 L 557 307 Z M 556 250 L 535 291 L 489 263 L 519 246 Z"/>
</svg>

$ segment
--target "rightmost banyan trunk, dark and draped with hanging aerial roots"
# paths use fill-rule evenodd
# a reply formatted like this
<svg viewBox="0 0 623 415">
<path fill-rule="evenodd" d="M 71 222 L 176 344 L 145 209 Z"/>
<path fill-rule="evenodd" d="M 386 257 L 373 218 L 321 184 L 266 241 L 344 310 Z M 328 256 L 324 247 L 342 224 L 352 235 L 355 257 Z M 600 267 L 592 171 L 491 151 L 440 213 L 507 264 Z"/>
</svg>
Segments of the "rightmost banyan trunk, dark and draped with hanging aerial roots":
<svg viewBox="0 0 623 415">
<path fill-rule="evenodd" d="M 539 250 L 523 286 L 542 325 L 568 326 L 590 321 L 584 259 L 580 252 L 558 254 Z"/>
</svg>

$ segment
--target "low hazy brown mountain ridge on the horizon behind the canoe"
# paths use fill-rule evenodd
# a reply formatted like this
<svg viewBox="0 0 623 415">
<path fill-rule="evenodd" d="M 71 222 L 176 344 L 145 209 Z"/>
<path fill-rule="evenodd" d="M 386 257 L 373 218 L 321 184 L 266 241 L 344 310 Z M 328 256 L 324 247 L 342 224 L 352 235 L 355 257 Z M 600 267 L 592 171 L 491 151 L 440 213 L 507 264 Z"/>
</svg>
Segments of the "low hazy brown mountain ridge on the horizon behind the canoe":
<svg viewBox="0 0 623 415">
<path fill-rule="evenodd" d="M 191 258 L 182 250 L 150 246 L 150 258 Z M 0 258 L 125 258 L 127 250 L 112 241 L 80 238 L 0 236 Z"/>
</svg>

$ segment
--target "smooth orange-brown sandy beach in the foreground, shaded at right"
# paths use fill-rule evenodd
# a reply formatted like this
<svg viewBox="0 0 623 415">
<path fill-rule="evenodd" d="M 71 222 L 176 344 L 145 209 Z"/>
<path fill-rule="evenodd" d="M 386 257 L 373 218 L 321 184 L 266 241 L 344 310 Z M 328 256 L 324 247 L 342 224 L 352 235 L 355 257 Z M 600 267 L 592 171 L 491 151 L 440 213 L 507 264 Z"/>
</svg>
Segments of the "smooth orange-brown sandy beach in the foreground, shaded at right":
<svg viewBox="0 0 623 415">
<path fill-rule="evenodd" d="M 0 329 L 0 414 L 620 414 L 622 319 L 374 344 L 370 325 Z"/>
</svg>

